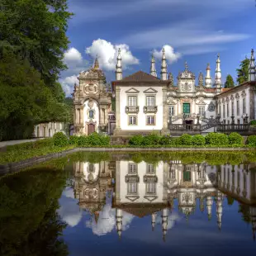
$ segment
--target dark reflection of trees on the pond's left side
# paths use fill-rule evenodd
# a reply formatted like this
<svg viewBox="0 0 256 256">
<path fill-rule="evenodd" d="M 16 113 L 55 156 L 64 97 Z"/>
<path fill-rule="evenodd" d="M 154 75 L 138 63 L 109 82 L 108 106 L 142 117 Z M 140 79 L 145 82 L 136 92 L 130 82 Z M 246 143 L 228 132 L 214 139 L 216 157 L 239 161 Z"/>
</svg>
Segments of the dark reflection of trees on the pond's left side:
<svg viewBox="0 0 256 256">
<path fill-rule="evenodd" d="M 68 255 L 56 210 L 64 172 L 31 169 L 0 180 L 0 254 Z"/>
</svg>

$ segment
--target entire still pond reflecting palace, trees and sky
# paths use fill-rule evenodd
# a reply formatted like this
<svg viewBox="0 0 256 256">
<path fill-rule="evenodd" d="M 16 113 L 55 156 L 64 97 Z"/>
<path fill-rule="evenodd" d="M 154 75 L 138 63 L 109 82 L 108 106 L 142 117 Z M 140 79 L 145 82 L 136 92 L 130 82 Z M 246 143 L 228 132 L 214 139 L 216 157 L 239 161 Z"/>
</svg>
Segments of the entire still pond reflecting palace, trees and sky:
<svg viewBox="0 0 256 256">
<path fill-rule="evenodd" d="M 1 255 L 255 255 L 255 154 L 80 153 L 0 179 Z"/>
</svg>

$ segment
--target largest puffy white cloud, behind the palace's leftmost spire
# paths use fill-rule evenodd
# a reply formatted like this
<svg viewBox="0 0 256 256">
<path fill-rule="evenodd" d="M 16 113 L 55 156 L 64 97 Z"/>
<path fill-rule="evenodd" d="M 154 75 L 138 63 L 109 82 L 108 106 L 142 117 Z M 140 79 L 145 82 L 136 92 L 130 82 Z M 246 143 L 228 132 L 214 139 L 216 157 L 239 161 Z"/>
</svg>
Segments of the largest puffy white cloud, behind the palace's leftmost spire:
<svg viewBox="0 0 256 256">
<path fill-rule="evenodd" d="M 86 54 L 93 59 L 98 55 L 98 60 L 101 69 L 107 71 L 116 69 L 116 57 L 118 49 L 121 49 L 121 59 L 123 69 L 127 69 L 130 65 L 139 64 L 139 59 L 136 59 L 130 52 L 129 46 L 125 44 L 112 45 L 107 40 L 97 39 L 93 40 L 92 45 L 86 48 Z"/>
</svg>

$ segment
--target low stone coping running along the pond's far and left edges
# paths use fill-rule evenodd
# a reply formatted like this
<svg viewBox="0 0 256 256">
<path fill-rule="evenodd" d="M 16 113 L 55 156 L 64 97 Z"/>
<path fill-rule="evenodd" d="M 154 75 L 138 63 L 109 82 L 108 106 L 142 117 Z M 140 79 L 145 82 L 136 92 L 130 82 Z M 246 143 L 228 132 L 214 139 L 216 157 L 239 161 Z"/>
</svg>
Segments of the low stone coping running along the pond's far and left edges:
<svg viewBox="0 0 256 256">
<path fill-rule="evenodd" d="M 67 154 L 76 152 L 174 152 L 174 151 L 252 151 L 254 148 L 75 148 L 67 149 L 63 152 L 45 154 L 31 159 L 21 160 L 20 162 L 0 164 L 0 175 L 15 173 L 21 168 L 26 168 L 34 164 L 40 164 L 50 159 L 64 157 Z"/>
</svg>

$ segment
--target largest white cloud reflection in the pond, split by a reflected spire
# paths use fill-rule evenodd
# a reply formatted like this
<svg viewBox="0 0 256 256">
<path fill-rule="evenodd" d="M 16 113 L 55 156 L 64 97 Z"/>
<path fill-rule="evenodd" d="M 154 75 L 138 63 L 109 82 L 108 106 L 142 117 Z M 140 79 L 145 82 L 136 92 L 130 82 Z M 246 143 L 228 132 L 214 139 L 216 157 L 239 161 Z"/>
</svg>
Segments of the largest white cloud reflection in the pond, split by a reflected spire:
<svg viewBox="0 0 256 256">
<path fill-rule="evenodd" d="M 130 215 L 123 211 L 123 218 L 122 218 L 122 230 L 127 230 L 130 226 L 131 220 L 134 216 Z M 106 235 L 110 233 L 116 227 L 116 209 L 111 208 L 111 203 L 107 203 L 103 211 L 99 214 L 99 219 L 97 223 L 95 220 L 86 221 L 86 226 L 92 229 L 92 233 L 94 235 Z"/>
</svg>

